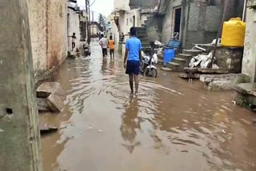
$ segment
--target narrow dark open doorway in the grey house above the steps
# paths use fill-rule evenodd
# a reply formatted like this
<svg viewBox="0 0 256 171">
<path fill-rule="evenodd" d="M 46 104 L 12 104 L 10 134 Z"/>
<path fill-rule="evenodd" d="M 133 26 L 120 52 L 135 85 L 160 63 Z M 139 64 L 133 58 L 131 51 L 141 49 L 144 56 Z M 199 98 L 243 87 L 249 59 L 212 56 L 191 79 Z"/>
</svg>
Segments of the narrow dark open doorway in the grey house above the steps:
<svg viewBox="0 0 256 171">
<path fill-rule="evenodd" d="M 181 23 L 182 23 L 182 7 L 174 8 L 173 34 L 177 35 L 178 40 L 181 38 Z"/>
</svg>

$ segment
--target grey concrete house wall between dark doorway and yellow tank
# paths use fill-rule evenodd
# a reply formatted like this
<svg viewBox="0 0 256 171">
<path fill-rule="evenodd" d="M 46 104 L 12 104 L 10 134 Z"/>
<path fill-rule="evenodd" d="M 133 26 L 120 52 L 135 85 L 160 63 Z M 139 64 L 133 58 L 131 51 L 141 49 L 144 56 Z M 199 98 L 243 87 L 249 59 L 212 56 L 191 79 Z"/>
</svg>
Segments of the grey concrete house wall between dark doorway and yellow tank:
<svg viewBox="0 0 256 171">
<path fill-rule="evenodd" d="M 188 6 L 186 39 L 183 47 L 191 48 L 193 43 L 210 43 L 216 38 L 222 22 L 223 6 L 207 6 L 205 3 L 190 3 Z"/>
</svg>

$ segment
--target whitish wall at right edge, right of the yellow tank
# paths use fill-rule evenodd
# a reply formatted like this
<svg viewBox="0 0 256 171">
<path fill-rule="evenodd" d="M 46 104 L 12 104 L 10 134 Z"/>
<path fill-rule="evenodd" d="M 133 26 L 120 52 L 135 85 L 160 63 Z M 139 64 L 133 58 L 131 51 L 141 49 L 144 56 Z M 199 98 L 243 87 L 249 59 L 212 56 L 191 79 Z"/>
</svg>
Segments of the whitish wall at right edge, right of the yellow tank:
<svg viewBox="0 0 256 171">
<path fill-rule="evenodd" d="M 247 9 L 246 40 L 242 62 L 242 73 L 249 74 L 251 82 L 256 82 L 256 10 Z"/>
</svg>

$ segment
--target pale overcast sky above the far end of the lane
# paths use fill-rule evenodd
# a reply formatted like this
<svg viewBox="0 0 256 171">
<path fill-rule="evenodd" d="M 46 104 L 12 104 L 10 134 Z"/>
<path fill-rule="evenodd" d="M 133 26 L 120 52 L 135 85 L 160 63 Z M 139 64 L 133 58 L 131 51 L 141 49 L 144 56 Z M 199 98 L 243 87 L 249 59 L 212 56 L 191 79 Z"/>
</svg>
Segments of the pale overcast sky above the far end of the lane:
<svg viewBox="0 0 256 171">
<path fill-rule="evenodd" d="M 90 2 L 94 2 L 94 0 L 90 0 Z M 78 6 L 85 6 L 85 0 L 78 0 Z M 96 0 L 94 5 L 91 6 L 91 10 L 95 11 L 94 21 L 98 18 L 98 14 L 102 13 L 107 16 L 111 14 L 114 10 L 114 0 Z"/>
</svg>

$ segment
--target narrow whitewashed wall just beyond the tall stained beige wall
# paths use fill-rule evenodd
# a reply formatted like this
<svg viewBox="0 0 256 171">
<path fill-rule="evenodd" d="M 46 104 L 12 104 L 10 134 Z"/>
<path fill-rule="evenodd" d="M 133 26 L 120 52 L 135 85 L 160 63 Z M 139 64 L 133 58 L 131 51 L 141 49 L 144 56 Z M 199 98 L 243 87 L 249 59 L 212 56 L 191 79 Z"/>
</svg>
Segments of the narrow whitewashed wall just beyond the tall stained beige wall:
<svg viewBox="0 0 256 171">
<path fill-rule="evenodd" d="M 68 9 L 68 50 L 72 51 L 72 38 L 70 36 L 73 35 L 73 33 L 75 33 L 77 39 L 75 41 L 75 49 L 79 49 L 80 47 L 80 20 L 79 20 L 79 14 L 76 13 L 76 11 Z"/>
</svg>

